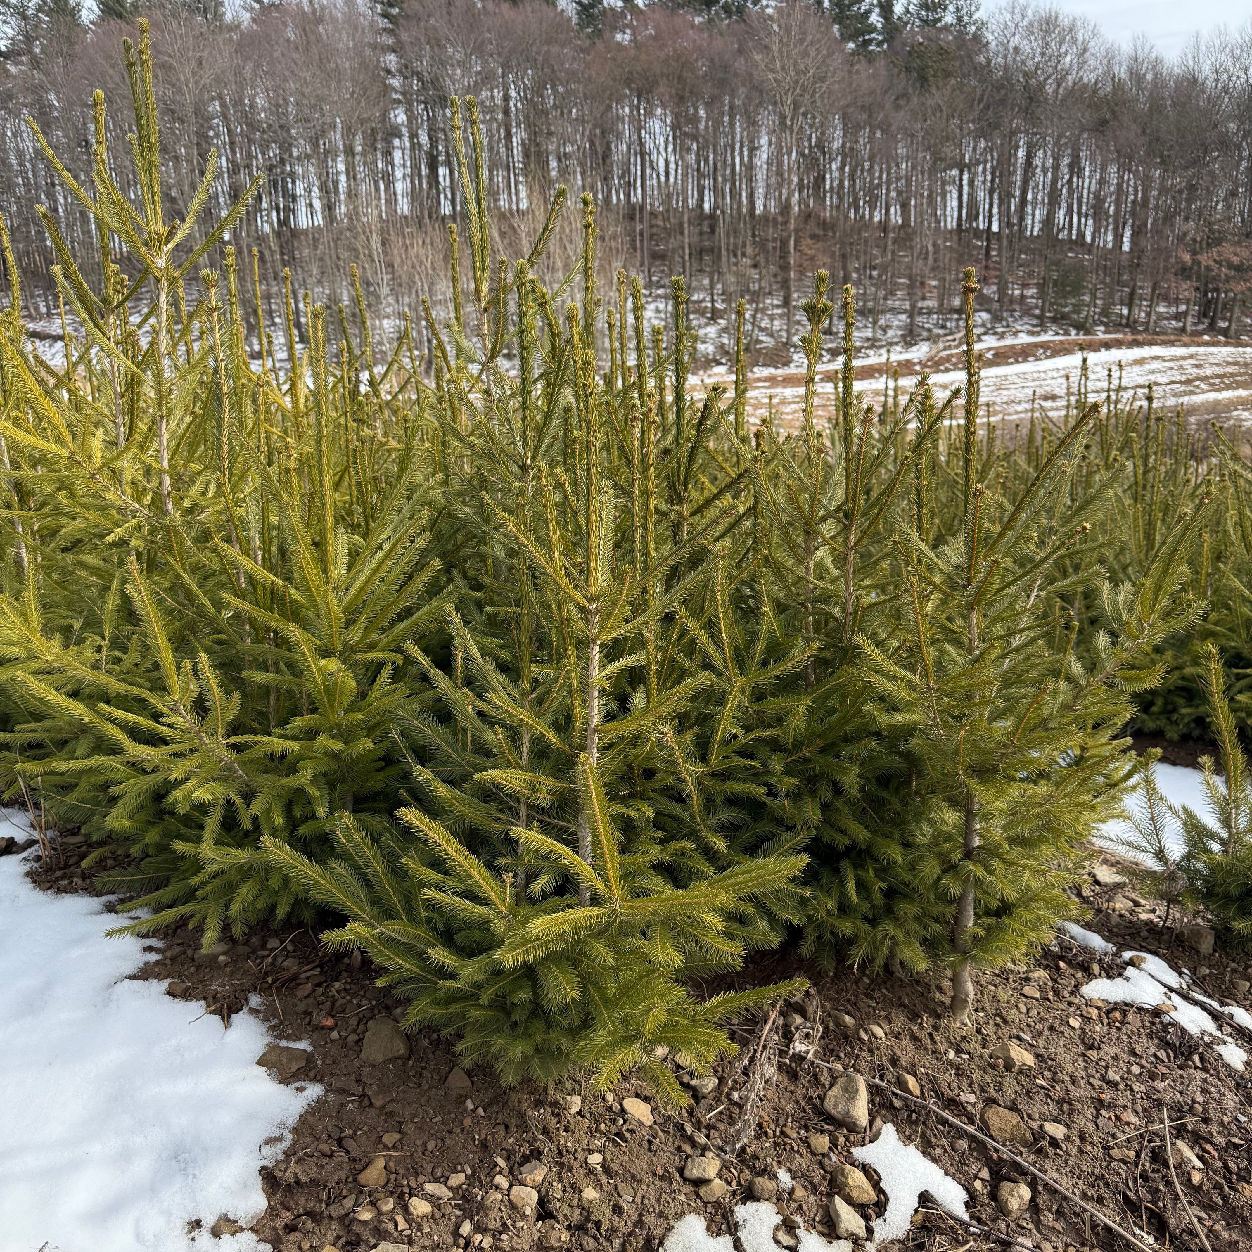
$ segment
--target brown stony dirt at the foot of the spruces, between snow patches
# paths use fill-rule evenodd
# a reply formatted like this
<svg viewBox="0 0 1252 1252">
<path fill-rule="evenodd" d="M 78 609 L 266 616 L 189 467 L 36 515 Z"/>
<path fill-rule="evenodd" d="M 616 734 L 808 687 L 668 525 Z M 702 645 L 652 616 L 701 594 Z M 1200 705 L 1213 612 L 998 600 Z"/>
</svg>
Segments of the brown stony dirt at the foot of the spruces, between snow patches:
<svg viewBox="0 0 1252 1252">
<path fill-rule="evenodd" d="M 64 868 L 39 873 L 36 880 L 54 890 L 90 890 L 76 860 L 71 849 Z M 1176 967 L 1188 963 L 1173 928 L 1163 925 L 1163 908 L 1128 886 L 1102 890 L 1087 883 L 1082 894 L 1094 910 L 1088 925 L 1111 942 L 1159 953 Z M 780 1209 L 823 1231 L 828 1176 L 864 1142 L 839 1133 L 823 1113 L 829 1070 L 805 1070 L 784 1057 L 776 1082 L 766 1088 L 755 1137 L 737 1161 L 721 1168 L 730 1193 L 704 1204 L 681 1169 L 689 1154 L 709 1146 L 716 1152 L 729 1138 L 736 1106 L 726 1089 L 676 1113 L 654 1103 L 655 1124 L 646 1127 L 622 1107 L 630 1096 L 651 1101 L 632 1082 L 607 1094 L 577 1084 L 508 1092 L 475 1070 L 468 1085 L 458 1085 L 457 1058 L 429 1034 L 412 1037 L 407 1059 L 366 1065 L 366 1023 L 394 1015 L 397 1005 L 373 985 L 359 959 L 332 957 L 305 930 L 257 934 L 222 955 L 197 948 L 194 935 L 178 931 L 159 950 L 153 945 L 153 960 L 138 977 L 170 979 L 168 994 L 204 1002 L 207 1012 L 225 1022 L 250 994 L 260 994 L 275 1037 L 313 1042 L 312 1064 L 293 1080 L 314 1079 L 326 1094 L 300 1118 L 283 1159 L 263 1171 L 269 1208 L 253 1227 L 279 1252 L 368 1252 L 381 1242 L 423 1249 L 654 1252 L 689 1212 L 702 1212 L 715 1233 L 726 1231 L 731 1206 L 746 1198 L 749 1181 L 774 1177 L 779 1168 L 800 1184 Z M 1252 958 L 1221 950 L 1202 960 L 1191 955 L 1198 962 L 1192 969 L 1214 997 L 1252 1003 L 1234 988 L 1236 979 L 1249 977 Z M 1033 1129 L 1027 1157 L 1039 1169 L 1122 1226 L 1133 1223 L 1167 1246 L 1194 1248 L 1198 1241 L 1154 1129 L 1168 1108 L 1174 1119 L 1188 1119 L 1176 1137 L 1206 1166 L 1196 1173 L 1179 1169 L 1179 1182 L 1213 1252 L 1252 1247 L 1252 1075 L 1228 1069 L 1166 1017 L 1079 999 L 1090 960 L 1090 953 L 1057 940 L 1030 969 L 984 975 L 974 1025 L 964 1029 L 944 1017 L 947 989 L 926 979 L 870 977 L 849 968 L 824 974 L 777 954 L 741 980 L 806 974 L 813 992 L 804 1004 L 788 1008 L 784 1048 L 808 1014 L 823 1027 L 818 1057 L 826 1064 L 893 1084 L 898 1075 L 913 1074 L 926 1099 L 970 1124 L 988 1103 L 1014 1109 Z M 1109 962 L 1103 969 L 1114 972 Z M 840 1029 L 835 1012 L 856 1024 Z M 740 1037 L 746 1042 L 750 1033 Z M 1005 1073 L 989 1057 L 1005 1039 L 1034 1054 L 1033 1073 Z M 1252 1039 L 1241 1042 L 1252 1050 Z M 581 1096 L 581 1112 L 568 1112 L 570 1094 Z M 905 1142 L 918 1143 L 955 1177 L 970 1193 L 972 1218 L 1002 1236 L 1039 1252 L 1124 1247 L 1098 1226 L 1088 1228 L 1082 1213 L 1049 1188 L 938 1118 L 874 1088 L 870 1116 L 894 1122 Z M 1052 1143 L 1042 1122 L 1062 1123 L 1064 1139 Z M 829 1152 L 814 1151 L 810 1132 L 830 1137 Z M 356 1176 L 379 1153 L 386 1153 L 386 1184 L 357 1183 Z M 501 1182 L 518 1181 L 527 1161 L 547 1167 L 533 1216 L 515 1211 L 501 1191 Z M 451 1199 L 426 1192 L 427 1183 L 447 1184 L 456 1173 L 464 1181 L 452 1188 Z M 1005 1179 L 1025 1181 L 1034 1193 L 1028 1216 L 1013 1226 L 994 1203 Z M 409 1217 L 409 1197 L 427 1199 L 431 1216 Z M 942 1214 L 923 1213 L 906 1246 L 969 1252 L 997 1244 Z"/>
</svg>

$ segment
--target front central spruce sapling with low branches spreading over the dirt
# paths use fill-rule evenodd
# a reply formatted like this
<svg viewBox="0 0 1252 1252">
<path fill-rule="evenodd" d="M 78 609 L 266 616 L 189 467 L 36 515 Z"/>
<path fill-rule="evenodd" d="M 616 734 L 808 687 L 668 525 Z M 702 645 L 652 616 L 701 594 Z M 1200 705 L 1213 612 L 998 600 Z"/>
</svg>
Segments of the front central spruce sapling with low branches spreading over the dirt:
<svg viewBox="0 0 1252 1252">
<path fill-rule="evenodd" d="M 327 942 L 363 947 L 411 1000 L 407 1023 L 456 1037 L 466 1060 L 510 1082 L 577 1067 L 608 1085 L 641 1069 L 679 1101 L 657 1047 L 706 1069 L 730 1047 L 721 1022 L 793 989 L 702 1000 L 684 979 L 732 969 L 754 936 L 764 942 L 759 903 L 801 861 L 722 868 L 689 829 L 652 819 L 665 727 L 702 685 L 667 657 L 714 522 L 684 518 L 679 503 L 670 525 L 654 525 L 654 448 L 640 442 L 650 421 L 632 388 L 605 386 L 586 333 L 595 225 L 583 204 L 582 308 L 562 326 L 515 267 L 520 369 L 466 393 L 443 429 L 452 461 L 475 454 L 475 472 L 449 481 L 491 568 L 477 573 L 472 612 L 449 617 L 454 665 L 412 650 L 433 699 L 398 726 L 413 771 L 402 829 L 372 838 L 343 819 L 339 856 L 324 866 L 268 846 L 303 891 L 348 918 Z M 447 384 L 458 377 L 453 367 Z M 642 354 L 636 381 L 654 412 Z"/>
</svg>

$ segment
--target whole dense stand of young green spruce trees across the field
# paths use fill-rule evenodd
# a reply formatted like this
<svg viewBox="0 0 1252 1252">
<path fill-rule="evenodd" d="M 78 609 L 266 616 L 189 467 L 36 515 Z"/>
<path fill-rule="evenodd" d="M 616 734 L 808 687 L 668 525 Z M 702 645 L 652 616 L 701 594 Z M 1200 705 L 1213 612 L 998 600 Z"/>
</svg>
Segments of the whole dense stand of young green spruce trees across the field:
<svg viewBox="0 0 1252 1252">
<path fill-rule="evenodd" d="M 190 921 L 210 947 L 299 919 L 366 953 L 407 1027 L 507 1082 L 637 1070 L 680 1102 L 664 1049 L 707 1072 L 729 1022 L 798 990 L 754 977 L 754 954 L 950 982 L 968 1020 L 984 972 L 1082 919 L 1082 845 L 1137 776 L 1136 727 L 1221 744 L 1223 829 L 1192 830 L 1177 873 L 1228 939 L 1249 936 L 1241 432 L 1085 383 L 1065 412 L 988 419 L 973 268 L 950 293 L 960 388 L 860 394 L 856 292 L 818 269 L 795 309 L 803 422 L 757 422 L 750 294 L 735 383 L 704 389 L 695 282 L 654 317 L 645 278 L 602 254 L 596 195 L 557 187 L 541 212 L 530 183 L 498 224 L 517 177 L 498 139 L 520 124 L 500 101 L 490 121 L 473 98 L 443 105 L 444 310 L 379 322 L 356 268 L 331 305 L 298 274 L 267 287 L 228 240 L 285 260 L 297 234 L 260 223 L 294 168 L 249 185 L 253 155 L 228 146 L 193 179 L 184 158 L 225 114 L 163 130 L 146 24 L 124 68 L 133 115 L 98 94 L 89 154 L 31 130 L 63 208 L 4 205 L 23 230 L 38 214 L 54 264 L 33 298 L 6 228 L 0 781 L 151 910 L 129 929 Z M 1133 217 L 1148 193 L 1118 160 L 1072 169 L 1124 177 Z M 239 195 L 218 212 L 223 182 Z M 615 238 L 632 219 L 607 199 Z M 967 253 L 979 203 L 949 237 Z M 734 215 L 715 219 L 729 239 Z M 54 342 L 30 333 L 45 299 Z"/>
</svg>

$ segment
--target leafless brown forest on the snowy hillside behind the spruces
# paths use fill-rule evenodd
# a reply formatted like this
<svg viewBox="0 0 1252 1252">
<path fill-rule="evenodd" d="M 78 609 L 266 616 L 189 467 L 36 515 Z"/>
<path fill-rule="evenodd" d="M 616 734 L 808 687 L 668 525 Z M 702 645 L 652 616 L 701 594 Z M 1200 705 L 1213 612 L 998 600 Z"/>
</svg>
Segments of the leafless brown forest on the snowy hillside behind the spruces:
<svg viewBox="0 0 1252 1252">
<path fill-rule="evenodd" d="M 55 314 L 35 207 L 74 247 L 90 222 L 21 119 L 85 177 L 90 93 L 125 94 L 114 50 L 133 16 L 129 0 L 5 0 L 0 198 L 33 314 Z M 958 331 L 970 263 L 979 309 L 1014 323 L 1237 336 L 1247 312 L 1247 31 L 1167 63 L 1078 19 L 964 0 L 188 0 L 149 16 L 175 210 L 210 146 L 210 208 L 264 175 L 233 242 L 259 248 L 268 317 L 284 268 L 333 305 L 349 263 L 376 313 L 451 309 L 452 94 L 480 101 L 503 239 L 537 228 L 556 185 L 588 190 L 606 254 L 649 297 L 685 275 L 724 357 L 739 299 L 749 353 L 791 344 L 820 267 L 880 338 Z M 562 233 L 552 255 L 578 247 Z"/>
</svg>

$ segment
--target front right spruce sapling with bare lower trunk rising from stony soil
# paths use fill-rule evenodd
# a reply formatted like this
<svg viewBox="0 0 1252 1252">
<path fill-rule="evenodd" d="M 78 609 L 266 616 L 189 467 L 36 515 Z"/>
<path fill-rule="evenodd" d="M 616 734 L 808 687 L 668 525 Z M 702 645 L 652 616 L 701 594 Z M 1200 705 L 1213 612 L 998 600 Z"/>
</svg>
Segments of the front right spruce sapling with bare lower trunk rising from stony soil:
<svg viewBox="0 0 1252 1252">
<path fill-rule="evenodd" d="M 975 289 L 967 270 L 959 512 L 930 530 L 934 546 L 916 532 L 901 542 L 898 644 L 863 641 L 879 716 L 904 732 L 921 799 L 905 903 L 952 972 L 958 1022 L 973 1010 L 977 968 L 1020 959 L 1072 911 L 1077 846 L 1116 811 L 1136 769 L 1118 737 L 1132 696 L 1159 681 L 1152 649 L 1196 616 L 1177 595 L 1194 517 L 1164 536 L 1134 583 L 1102 580 L 1089 558 L 1059 577 L 1106 507 L 1107 482 L 1075 491 L 1070 472 L 1097 406 L 1012 495 L 983 481 Z M 1102 630 L 1085 652 L 1072 629 L 1053 646 L 1049 601 L 1078 588 L 1101 605 Z"/>
</svg>

